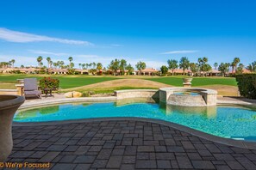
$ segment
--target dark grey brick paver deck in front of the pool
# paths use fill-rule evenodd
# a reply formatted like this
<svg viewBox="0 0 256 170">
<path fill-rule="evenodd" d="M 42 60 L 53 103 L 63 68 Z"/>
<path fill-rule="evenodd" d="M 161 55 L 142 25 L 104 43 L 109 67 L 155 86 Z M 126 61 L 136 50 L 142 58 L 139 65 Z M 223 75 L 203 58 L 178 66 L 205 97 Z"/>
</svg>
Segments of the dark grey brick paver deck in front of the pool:
<svg viewBox="0 0 256 170">
<path fill-rule="evenodd" d="M 142 121 L 14 126 L 8 161 L 53 169 L 256 169 L 256 150 Z"/>
</svg>

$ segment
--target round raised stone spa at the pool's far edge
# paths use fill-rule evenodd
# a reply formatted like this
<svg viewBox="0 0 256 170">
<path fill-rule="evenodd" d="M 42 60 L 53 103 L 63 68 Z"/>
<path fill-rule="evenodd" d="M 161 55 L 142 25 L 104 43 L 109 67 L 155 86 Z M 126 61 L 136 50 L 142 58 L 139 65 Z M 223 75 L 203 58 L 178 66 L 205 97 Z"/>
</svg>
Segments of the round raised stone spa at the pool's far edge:
<svg viewBox="0 0 256 170">
<path fill-rule="evenodd" d="M 215 106 L 217 92 L 206 88 L 159 88 L 159 101 L 175 106 Z"/>
</svg>

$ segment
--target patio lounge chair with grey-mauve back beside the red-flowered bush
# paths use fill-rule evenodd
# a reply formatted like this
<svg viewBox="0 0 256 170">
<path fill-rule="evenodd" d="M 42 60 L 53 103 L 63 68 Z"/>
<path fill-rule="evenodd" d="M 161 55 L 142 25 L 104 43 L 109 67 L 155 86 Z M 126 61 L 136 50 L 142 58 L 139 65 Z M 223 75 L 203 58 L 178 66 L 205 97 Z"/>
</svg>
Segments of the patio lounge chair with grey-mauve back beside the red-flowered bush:
<svg viewBox="0 0 256 170">
<path fill-rule="evenodd" d="M 41 99 L 41 91 L 38 90 L 36 78 L 24 79 L 24 95 L 28 97 L 38 97 Z"/>
</svg>

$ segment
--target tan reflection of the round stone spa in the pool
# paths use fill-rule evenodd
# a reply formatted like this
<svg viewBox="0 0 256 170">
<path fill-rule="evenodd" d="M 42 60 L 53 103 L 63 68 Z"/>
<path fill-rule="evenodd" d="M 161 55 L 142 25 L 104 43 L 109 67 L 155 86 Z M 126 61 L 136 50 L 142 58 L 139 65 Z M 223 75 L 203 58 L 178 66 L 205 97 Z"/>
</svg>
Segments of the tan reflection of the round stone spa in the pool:
<svg viewBox="0 0 256 170">
<path fill-rule="evenodd" d="M 173 112 L 181 114 L 199 114 L 207 118 L 215 118 L 217 112 L 217 106 L 174 106 L 160 102 L 159 109 L 166 115 L 170 115 Z"/>
</svg>

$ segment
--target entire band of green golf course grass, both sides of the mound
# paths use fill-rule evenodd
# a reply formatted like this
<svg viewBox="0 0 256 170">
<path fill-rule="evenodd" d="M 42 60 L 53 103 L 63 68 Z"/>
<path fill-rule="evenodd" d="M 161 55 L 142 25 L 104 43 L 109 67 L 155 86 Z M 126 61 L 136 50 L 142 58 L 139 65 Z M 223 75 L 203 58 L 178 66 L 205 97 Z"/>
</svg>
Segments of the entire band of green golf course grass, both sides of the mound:
<svg viewBox="0 0 256 170">
<path fill-rule="evenodd" d="M 116 80 L 120 78 L 138 78 L 138 79 L 146 79 L 154 82 L 162 82 L 165 84 L 169 84 L 172 86 L 182 86 L 183 76 L 66 76 L 66 75 L 0 75 L 0 89 L 8 88 L 6 86 L 13 86 L 16 83 L 16 79 L 23 79 L 26 77 L 36 77 L 40 80 L 44 76 L 51 76 L 58 78 L 60 81 L 60 88 L 76 88 L 85 85 L 94 84 L 97 82 L 105 82 Z M 1 82 L 5 82 L 4 84 Z M 7 83 L 6 83 L 7 82 Z M 9 84 L 8 84 L 9 83 Z M 235 78 L 230 77 L 193 77 L 192 86 L 204 86 L 204 85 L 230 85 L 236 86 L 237 83 Z M 3 87 L 2 87 L 3 86 Z M 113 89 L 110 89 L 113 90 Z"/>
</svg>

